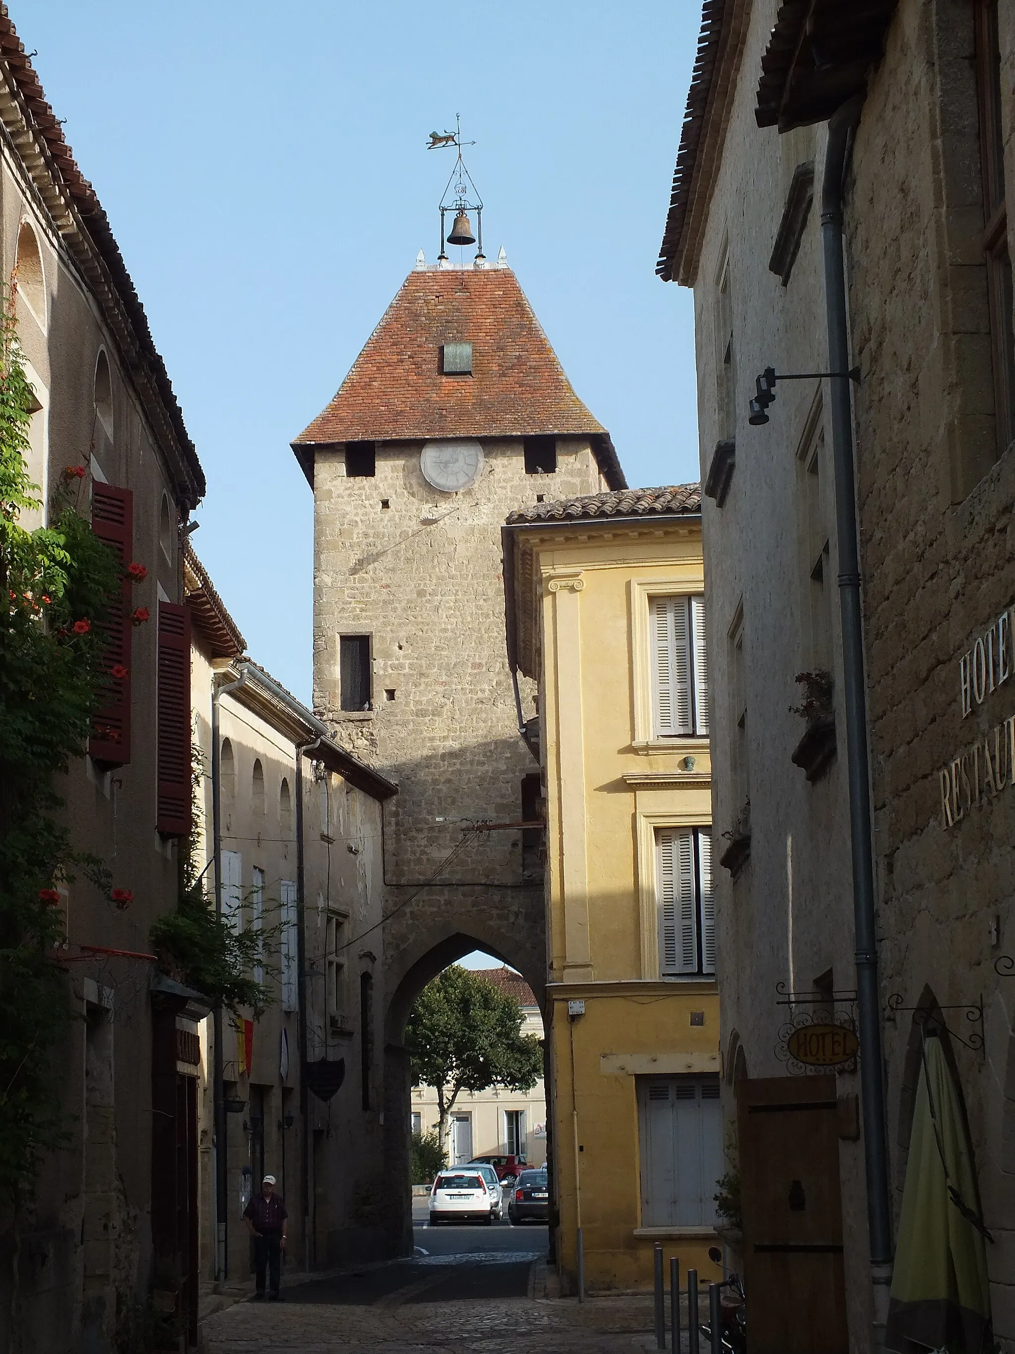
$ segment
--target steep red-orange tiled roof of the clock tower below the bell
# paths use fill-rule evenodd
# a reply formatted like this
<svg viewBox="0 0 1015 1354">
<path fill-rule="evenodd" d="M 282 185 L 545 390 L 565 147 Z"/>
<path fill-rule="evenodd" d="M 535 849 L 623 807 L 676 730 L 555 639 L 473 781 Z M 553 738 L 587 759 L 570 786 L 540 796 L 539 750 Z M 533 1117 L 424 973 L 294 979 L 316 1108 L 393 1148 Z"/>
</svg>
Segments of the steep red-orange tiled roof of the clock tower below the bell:
<svg viewBox="0 0 1015 1354">
<path fill-rule="evenodd" d="M 472 344 L 472 374 L 441 371 L 441 347 Z M 514 274 L 410 272 L 342 382 L 292 443 L 428 437 L 585 436 L 613 487 L 624 485 L 609 433 L 571 389 Z"/>
</svg>

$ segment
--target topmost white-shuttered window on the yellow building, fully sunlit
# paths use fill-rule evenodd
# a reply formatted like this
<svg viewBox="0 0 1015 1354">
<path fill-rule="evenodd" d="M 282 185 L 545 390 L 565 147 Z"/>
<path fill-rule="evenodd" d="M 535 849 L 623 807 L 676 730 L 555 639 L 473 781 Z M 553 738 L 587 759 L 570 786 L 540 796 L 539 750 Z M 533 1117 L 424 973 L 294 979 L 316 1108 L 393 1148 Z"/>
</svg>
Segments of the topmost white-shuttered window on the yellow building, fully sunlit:
<svg viewBox="0 0 1015 1354">
<path fill-rule="evenodd" d="M 650 597 L 652 735 L 708 734 L 705 598 Z"/>
</svg>

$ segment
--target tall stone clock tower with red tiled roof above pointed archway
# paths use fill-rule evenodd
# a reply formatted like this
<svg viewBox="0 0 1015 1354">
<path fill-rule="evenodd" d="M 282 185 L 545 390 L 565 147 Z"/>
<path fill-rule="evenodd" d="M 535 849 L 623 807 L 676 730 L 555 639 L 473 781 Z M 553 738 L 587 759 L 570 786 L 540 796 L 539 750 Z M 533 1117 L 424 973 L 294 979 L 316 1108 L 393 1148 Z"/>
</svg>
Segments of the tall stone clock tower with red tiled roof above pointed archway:
<svg viewBox="0 0 1015 1354">
<path fill-rule="evenodd" d="M 378 956 L 391 1051 L 422 983 L 468 949 L 543 990 L 539 834 L 498 830 L 461 848 L 464 821 L 518 823 L 539 796 L 505 657 L 501 525 L 514 508 L 624 478 L 503 250 L 464 268 L 421 256 L 292 448 L 314 490 L 314 708 L 398 784 L 383 842 L 394 915 L 383 948 L 376 934 L 363 946 Z M 399 1094 L 388 1086 L 397 1114 Z"/>
</svg>

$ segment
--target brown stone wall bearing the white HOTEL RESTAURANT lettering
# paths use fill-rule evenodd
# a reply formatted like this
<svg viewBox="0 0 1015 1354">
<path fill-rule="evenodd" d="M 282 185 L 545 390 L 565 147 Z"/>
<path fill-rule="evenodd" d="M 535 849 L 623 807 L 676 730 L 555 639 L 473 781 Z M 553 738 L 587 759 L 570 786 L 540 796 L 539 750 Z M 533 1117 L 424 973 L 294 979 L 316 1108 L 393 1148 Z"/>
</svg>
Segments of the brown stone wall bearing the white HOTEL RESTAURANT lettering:
<svg viewBox="0 0 1015 1354">
<path fill-rule="evenodd" d="M 999 18 L 1012 184 L 1015 23 L 1004 5 Z M 1015 681 L 991 682 L 964 716 L 960 672 L 1015 603 L 1015 445 L 992 463 L 973 53 L 969 5 L 900 5 L 863 108 L 847 221 L 854 360 L 865 372 L 855 408 L 882 991 L 904 1006 L 957 1007 L 943 1016 L 958 1036 L 949 1043 L 996 1242 L 987 1248 L 995 1334 L 1011 1340 L 1015 979 L 999 978 L 995 961 L 1015 953 L 1015 792 L 1007 731 L 997 749 L 993 731 L 1015 715 Z M 964 754 L 949 825 L 941 774 Z M 966 1018 L 981 999 L 983 1026 Z M 960 1043 L 977 1034 L 984 1052 Z M 911 1013 L 886 1020 L 885 1047 L 897 1206 L 918 1048 Z"/>
</svg>

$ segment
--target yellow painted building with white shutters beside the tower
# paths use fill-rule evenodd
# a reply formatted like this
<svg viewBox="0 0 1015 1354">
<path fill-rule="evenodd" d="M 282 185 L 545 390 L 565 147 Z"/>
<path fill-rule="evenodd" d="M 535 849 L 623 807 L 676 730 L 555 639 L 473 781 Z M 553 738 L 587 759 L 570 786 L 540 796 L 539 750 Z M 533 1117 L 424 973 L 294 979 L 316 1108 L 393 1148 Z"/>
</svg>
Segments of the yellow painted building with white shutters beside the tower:
<svg viewBox="0 0 1015 1354">
<path fill-rule="evenodd" d="M 713 1278 L 723 1127 L 701 494 L 536 504 L 512 513 L 503 546 L 518 719 L 545 806 L 562 1282 L 575 1290 L 581 1246 L 589 1290 L 644 1288 L 656 1240 L 682 1273 Z"/>
</svg>

